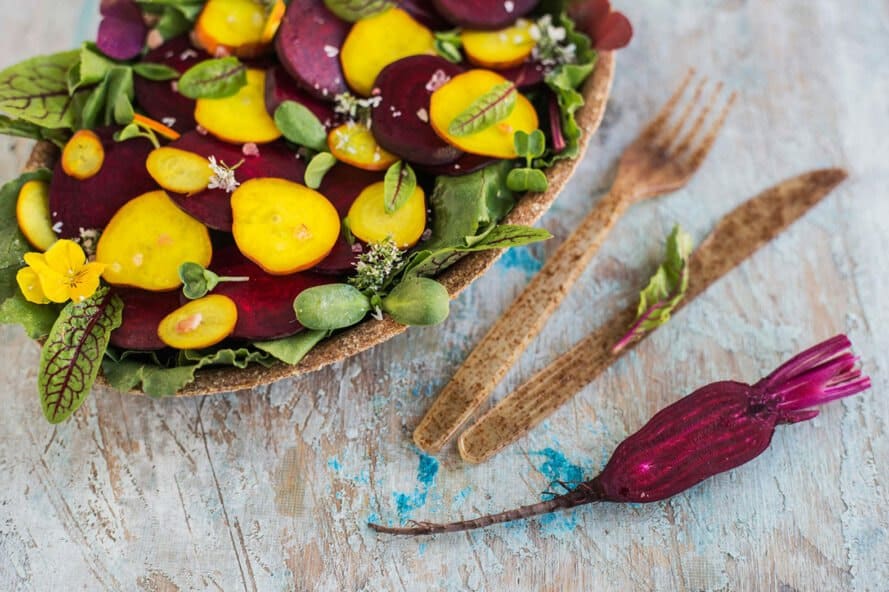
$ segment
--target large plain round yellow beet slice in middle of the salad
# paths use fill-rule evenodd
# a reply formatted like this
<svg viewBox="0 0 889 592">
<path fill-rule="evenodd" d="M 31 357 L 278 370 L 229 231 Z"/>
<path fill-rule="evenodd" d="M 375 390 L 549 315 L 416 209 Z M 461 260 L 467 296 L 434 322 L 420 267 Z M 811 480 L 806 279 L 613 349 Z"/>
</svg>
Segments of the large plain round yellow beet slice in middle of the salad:
<svg viewBox="0 0 889 592">
<path fill-rule="evenodd" d="M 326 197 L 284 179 L 251 179 L 232 193 L 232 233 L 245 257 L 286 275 L 324 259 L 340 235 L 340 217 Z"/>
</svg>

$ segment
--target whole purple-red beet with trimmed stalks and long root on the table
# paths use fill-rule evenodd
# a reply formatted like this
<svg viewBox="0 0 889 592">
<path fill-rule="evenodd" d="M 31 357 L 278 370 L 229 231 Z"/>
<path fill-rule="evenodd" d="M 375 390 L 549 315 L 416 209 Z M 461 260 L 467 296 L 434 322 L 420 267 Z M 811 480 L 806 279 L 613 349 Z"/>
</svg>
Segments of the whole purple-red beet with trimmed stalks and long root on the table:
<svg viewBox="0 0 889 592">
<path fill-rule="evenodd" d="M 870 388 L 845 335 L 792 358 L 753 385 L 714 382 L 659 411 L 614 451 L 601 473 L 564 495 L 515 510 L 450 524 L 419 523 L 389 534 L 481 528 L 593 502 L 655 502 L 753 460 L 775 426 L 818 415 L 818 405 Z"/>
</svg>

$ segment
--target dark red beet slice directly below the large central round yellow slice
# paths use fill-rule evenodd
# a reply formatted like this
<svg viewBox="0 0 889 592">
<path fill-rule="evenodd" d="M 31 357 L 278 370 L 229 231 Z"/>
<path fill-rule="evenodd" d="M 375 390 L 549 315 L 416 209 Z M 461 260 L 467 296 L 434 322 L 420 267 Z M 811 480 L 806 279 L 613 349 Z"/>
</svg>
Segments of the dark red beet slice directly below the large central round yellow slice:
<svg viewBox="0 0 889 592">
<path fill-rule="evenodd" d="M 217 250 L 210 269 L 221 276 L 249 277 L 246 282 L 223 282 L 214 290 L 234 300 L 238 324 L 233 337 L 242 339 L 278 339 L 302 330 L 293 312 L 293 300 L 313 286 L 336 281 L 330 276 L 310 272 L 270 275 L 244 257 L 237 248 Z"/>
</svg>

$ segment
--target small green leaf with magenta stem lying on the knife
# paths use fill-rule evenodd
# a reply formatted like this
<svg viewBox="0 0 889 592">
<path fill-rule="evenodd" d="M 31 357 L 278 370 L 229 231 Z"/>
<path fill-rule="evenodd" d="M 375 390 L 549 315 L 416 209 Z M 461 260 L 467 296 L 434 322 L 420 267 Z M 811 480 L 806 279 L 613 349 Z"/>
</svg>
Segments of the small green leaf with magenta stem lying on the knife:
<svg viewBox="0 0 889 592">
<path fill-rule="evenodd" d="M 688 257 L 692 251 L 692 239 L 677 224 L 667 237 L 667 253 L 664 262 L 651 276 L 648 285 L 639 294 L 636 322 L 618 341 L 613 352 L 617 353 L 649 331 L 670 320 L 670 313 L 685 296 L 688 289 Z"/>
</svg>

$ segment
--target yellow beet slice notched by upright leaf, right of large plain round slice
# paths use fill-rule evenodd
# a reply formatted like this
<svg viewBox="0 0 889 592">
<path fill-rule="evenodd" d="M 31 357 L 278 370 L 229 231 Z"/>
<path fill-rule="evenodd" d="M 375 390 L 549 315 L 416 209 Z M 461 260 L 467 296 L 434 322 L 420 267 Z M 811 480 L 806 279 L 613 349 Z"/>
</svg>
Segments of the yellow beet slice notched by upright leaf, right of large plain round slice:
<svg viewBox="0 0 889 592">
<path fill-rule="evenodd" d="M 414 246 L 426 229 L 426 197 L 418 186 L 407 201 L 391 214 L 386 213 L 385 183 L 364 189 L 349 208 L 349 230 L 368 243 L 392 237 L 401 249 Z"/>
</svg>

